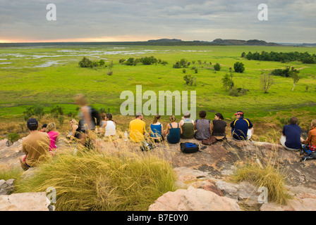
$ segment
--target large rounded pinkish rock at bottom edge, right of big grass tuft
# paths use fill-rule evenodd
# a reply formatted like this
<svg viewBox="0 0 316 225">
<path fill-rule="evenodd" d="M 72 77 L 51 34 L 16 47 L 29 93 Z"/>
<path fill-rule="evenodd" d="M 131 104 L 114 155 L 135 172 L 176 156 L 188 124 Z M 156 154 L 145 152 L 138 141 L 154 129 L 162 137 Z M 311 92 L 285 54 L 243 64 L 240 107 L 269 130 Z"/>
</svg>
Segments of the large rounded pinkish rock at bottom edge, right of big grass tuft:
<svg viewBox="0 0 316 225">
<path fill-rule="evenodd" d="M 241 211 L 241 208 L 230 198 L 190 186 L 165 193 L 150 205 L 149 211 Z"/>
</svg>

